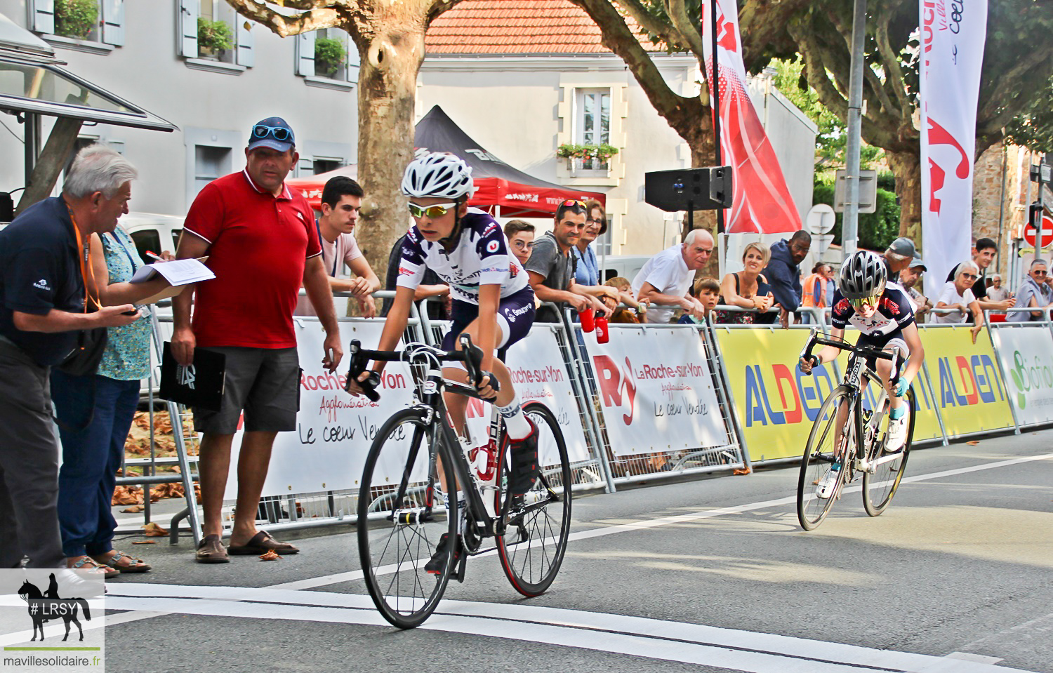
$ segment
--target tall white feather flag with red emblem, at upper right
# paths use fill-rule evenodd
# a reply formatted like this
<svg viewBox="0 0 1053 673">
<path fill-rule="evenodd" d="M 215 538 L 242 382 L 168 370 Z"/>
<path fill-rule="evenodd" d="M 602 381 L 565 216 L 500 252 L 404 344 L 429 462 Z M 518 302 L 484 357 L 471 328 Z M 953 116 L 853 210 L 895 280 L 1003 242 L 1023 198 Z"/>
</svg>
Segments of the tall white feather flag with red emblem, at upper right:
<svg viewBox="0 0 1053 673">
<path fill-rule="evenodd" d="M 921 0 L 921 257 L 926 294 L 970 258 L 987 0 Z"/>
</svg>

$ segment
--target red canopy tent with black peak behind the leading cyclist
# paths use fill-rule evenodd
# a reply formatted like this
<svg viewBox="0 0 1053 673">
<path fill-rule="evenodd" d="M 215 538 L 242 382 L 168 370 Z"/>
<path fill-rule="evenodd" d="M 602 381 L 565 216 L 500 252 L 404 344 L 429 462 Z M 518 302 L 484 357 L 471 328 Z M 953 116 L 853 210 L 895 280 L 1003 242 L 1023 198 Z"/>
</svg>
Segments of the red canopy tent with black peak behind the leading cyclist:
<svg viewBox="0 0 1053 673">
<path fill-rule="evenodd" d="M 596 199 L 605 205 L 602 193 L 545 182 L 501 161 L 472 140 L 438 105 L 417 122 L 414 140 L 418 154 L 449 152 L 472 166 L 476 192 L 469 203 L 501 217 L 551 217 L 567 199 Z M 330 178 L 338 175 L 356 178 L 357 174 L 358 166 L 350 165 L 315 176 L 290 178 L 285 184 L 298 187 L 317 210 L 322 187 Z"/>
</svg>

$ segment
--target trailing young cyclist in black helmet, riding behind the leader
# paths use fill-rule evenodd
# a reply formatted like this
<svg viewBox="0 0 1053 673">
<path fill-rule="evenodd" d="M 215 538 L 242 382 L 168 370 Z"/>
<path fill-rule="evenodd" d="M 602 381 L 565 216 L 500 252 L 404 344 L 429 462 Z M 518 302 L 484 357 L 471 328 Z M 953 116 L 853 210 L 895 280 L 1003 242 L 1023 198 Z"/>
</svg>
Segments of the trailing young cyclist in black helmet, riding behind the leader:
<svg viewBox="0 0 1053 673">
<path fill-rule="evenodd" d="M 890 383 L 892 362 L 869 362 L 885 381 L 891 400 L 889 418 L 892 422 L 889 423 L 886 451 L 899 451 L 907 441 L 907 402 L 902 397 L 925 360 L 925 348 L 914 322 L 910 297 L 899 285 L 888 284 L 880 257 L 861 250 L 852 253 L 841 264 L 830 317 L 833 324 L 831 336 L 835 339 L 843 338 L 845 329 L 852 324 L 860 332 L 857 344 L 889 352 L 896 350 L 900 362 L 907 362 L 895 389 Z M 811 361 L 801 358 L 798 368 L 802 372 L 811 372 L 816 364 L 833 361 L 839 353 L 840 350 L 828 345 L 813 355 Z"/>
</svg>

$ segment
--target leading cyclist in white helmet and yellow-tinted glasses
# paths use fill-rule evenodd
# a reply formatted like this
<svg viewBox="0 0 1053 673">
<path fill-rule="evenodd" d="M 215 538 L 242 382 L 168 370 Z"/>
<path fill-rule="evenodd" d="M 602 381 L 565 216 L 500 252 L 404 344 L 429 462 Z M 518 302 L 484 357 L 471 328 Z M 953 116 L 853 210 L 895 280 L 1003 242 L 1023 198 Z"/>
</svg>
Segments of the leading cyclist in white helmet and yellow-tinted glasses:
<svg viewBox="0 0 1053 673">
<path fill-rule="evenodd" d="M 457 337 L 469 334 L 472 343 L 482 350 L 480 369 L 492 374 L 482 377 L 479 395 L 492 401 L 504 419 L 512 444 L 511 490 L 523 494 L 537 479 L 537 430 L 523 415 L 512 375 L 495 351 L 522 339 L 534 323 L 534 291 L 526 272 L 509 253 L 508 240 L 497 221 L 468 206 L 474 192 L 472 170 L 461 159 L 438 152 L 415 159 L 406 166 L 402 192 L 410 197 L 415 223 L 402 243 L 395 301 L 377 350 L 391 351 L 398 343 L 425 269 L 449 283 L 453 324 L 442 339 L 442 348 L 459 348 Z M 443 376 L 463 379 L 464 370 L 451 364 L 443 369 Z M 374 373 L 383 368 L 384 362 L 373 363 Z M 374 373 L 363 372 L 358 381 L 376 376 Z M 500 384 L 497 392 L 490 385 L 491 376 Z M 360 394 L 361 388 L 351 381 L 347 391 Z M 468 398 L 451 393 L 445 402 L 454 428 L 463 433 Z M 443 535 L 435 557 L 425 566 L 428 572 L 441 573 L 446 543 Z M 455 560 L 459 554 L 458 546 Z"/>
</svg>

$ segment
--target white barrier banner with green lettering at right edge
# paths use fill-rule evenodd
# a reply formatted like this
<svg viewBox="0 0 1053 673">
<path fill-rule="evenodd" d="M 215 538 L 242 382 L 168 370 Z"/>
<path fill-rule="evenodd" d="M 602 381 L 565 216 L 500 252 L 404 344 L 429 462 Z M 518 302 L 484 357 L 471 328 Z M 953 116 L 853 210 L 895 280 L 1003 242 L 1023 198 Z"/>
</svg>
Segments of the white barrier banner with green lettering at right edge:
<svg viewBox="0 0 1053 673">
<path fill-rule="evenodd" d="M 1053 335 L 1046 325 L 991 330 L 1021 425 L 1053 420 Z"/>
</svg>

